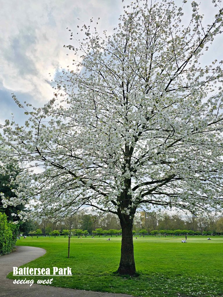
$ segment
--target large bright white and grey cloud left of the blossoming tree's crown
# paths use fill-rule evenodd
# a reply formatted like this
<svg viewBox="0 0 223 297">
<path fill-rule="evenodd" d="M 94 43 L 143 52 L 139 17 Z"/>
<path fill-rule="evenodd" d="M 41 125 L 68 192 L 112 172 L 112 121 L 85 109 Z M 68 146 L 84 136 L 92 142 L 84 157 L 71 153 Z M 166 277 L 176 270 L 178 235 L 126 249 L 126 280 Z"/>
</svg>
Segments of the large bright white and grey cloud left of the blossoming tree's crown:
<svg viewBox="0 0 223 297">
<path fill-rule="evenodd" d="M 117 5 L 119 3 L 119 5 Z M 72 63 L 64 44 L 80 23 L 101 18 L 99 29 L 112 28 L 121 12 L 121 1 L 5 1 L 1 6 L 0 79 L 13 92 L 45 102 L 53 96 L 49 84 L 58 69 Z M 117 6 L 117 7 L 116 7 Z M 102 28 L 103 25 L 103 28 Z"/>
</svg>

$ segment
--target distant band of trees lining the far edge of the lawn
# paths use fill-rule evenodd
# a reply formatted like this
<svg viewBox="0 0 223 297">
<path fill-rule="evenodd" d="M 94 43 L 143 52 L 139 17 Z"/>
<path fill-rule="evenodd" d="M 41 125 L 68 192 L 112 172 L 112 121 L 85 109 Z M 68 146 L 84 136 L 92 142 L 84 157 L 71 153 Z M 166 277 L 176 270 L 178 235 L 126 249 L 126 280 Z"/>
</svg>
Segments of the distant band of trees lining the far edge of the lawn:
<svg viewBox="0 0 223 297">
<path fill-rule="evenodd" d="M 83 210 L 57 223 L 46 220 L 35 222 L 33 229 L 41 229 L 43 235 L 49 235 L 54 230 L 59 230 L 63 234 L 63 230 L 75 229 L 95 234 L 99 229 L 105 230 L 105 232 L 107 232 L 106 230 L 121 230 L 121 226 L 115 214 L 107 213 L 102 216 L 95 211 Z M 190 230 L 196 234 L 223 233 L 223 218 L 214 215 L 203 215 L 197 218 L 186 212 L 139 212 L 135 215 L 133 231 L 139 233 L 142 229 L 145 229 L 149 234 L 153 234 L 154 230 L 159 233 L 161 230 Z"/>
</svg>

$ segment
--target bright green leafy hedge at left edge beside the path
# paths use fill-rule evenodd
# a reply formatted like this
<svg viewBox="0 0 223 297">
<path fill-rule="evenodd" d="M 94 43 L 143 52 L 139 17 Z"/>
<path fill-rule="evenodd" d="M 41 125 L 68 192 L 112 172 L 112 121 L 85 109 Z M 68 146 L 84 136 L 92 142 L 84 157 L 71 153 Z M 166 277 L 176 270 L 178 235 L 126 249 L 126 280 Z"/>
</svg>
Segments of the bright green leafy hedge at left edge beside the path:
<svg viewBox="0 0 223 297">
<path fill-rule="evenodd" d="M 15 249 L 18 227 L 7 222 L 6 214 L 0 213 L 0 255 L 9 254 Z"/>
</svg>

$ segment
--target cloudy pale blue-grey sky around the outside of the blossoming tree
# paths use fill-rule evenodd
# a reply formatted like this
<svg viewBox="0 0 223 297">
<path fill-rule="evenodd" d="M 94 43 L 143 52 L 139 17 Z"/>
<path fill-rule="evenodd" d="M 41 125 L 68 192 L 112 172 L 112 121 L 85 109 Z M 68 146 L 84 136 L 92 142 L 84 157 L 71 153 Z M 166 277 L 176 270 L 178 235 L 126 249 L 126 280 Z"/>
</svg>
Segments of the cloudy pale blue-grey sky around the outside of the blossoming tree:
<svg viewBox="0 0 223 297">
<path fill-rule="evenodd" d="M 209 22 L 216 10 L 211 0 L 200 1 L 205 22 Z M 177 5 L 182 2 L 175 0 Z M 187 2 L 184 22 L 190 14 L 191 0 Z M 98 31 L 106 29 L 112 34 L 124 4 L 122 0 L 0 0 L 0 123 L 11 119 L 12 114 L 19 124 L 24 122 L 23 111 L 13 101 L 12 93 L 22 103 L 34 106 L 42 106 L 54 97 L 51 79 L 72 64 L 71 51 L 63 47 L 70 44 L 67 27 L 75 32 L 82 22 L 88 25 L 90 18 L 100 18 Z M 203 62 L 222 60 L 222 37 L 216 38 Z"/>
</svg>

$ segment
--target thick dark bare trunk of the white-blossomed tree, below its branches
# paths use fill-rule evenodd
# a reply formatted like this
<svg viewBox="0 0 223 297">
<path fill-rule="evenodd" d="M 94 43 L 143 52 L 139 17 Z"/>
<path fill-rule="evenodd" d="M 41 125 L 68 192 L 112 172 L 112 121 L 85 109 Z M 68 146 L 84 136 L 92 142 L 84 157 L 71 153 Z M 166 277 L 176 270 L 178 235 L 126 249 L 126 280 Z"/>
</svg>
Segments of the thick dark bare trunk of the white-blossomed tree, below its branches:
<svg viewBox="0 0 223 297">
<path fill-rule="evenodd" d="M 134 260 L 134 247 L 133 247 L 133 220 L 126 218 L 120 219 L 122 227 L 122 246 L 121 246 L 121 259 L 118 268 L 120 274 L 134 275 L 136 272 Z"/>
</svg>

